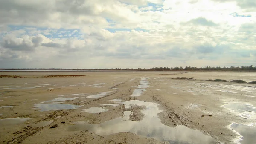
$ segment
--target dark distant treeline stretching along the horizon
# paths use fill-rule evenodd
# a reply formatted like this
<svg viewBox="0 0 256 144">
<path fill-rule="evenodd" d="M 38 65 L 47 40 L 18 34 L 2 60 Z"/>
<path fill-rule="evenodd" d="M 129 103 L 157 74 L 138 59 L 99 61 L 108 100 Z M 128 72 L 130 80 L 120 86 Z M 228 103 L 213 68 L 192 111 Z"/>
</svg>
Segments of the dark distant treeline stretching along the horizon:
<svg viewBox="0 0 256 144">
<path fill-rule="evenodd" d="M 83 70 L 87 70 L 87 71 L 93 71 L 93 70 L 109 70 L 109 71 L 113 71 L 113 70 L 137 70 L 137 71 L 256 71 L 256 66 L 253 67 L 253 65 L 250 66 L 230 66 L 230 67 L 211 67 L 211 66 L 206 66 L 206 67 L 202 67 L 202 68 L 197 68 L 197 67 L 191 67 L 191 66 L 186 66 L 185 68 L 183 68 L 182 66 L 180 67 L 154 67 L 154 68 L 150 68 L 150 69 L 142 69 L 142 68 L 138 68 L 138 69 L 120 69 L 120 68 L 115 68 L 115 69 L 55 69 L 55 68 L 51 68 L 51 69 L 2 69 L 2 70 L 78 70 L 78 71 L 83 71 Z"/>
</svg>

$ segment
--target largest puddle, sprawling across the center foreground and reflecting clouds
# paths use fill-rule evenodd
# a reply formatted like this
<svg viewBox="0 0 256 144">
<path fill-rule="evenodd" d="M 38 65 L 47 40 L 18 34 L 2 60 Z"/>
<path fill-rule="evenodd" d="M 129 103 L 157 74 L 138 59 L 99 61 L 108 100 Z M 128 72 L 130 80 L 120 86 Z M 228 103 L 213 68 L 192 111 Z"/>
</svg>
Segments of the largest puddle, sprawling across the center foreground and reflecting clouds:
<svg viewBox="0 0 256 144">
<path fill-rule="evenodd" d="M 204 135 L 198 130 L 192 130 L 185 126 L 169 127 L 161 123 L 157 114 L 162 112 L 159 104 L 131 100 L 119 104 L 125 104 L 128 109 L 131 105 L 145 106 L 141 112 L 145 115 L 142 121 L 130 121 L 131 111 L 125 111 L 123 117 L 119 117 L 102 124 L 88 124 L 85 121 L 74 122 L 68 127 L 69 131 L 90 130 L 97 135 L 109 135 L 118 132 L 132 132 L 144 137 L 155 138 L 160 141 L 179 144 L 215 144 L 212 137 Z"/>
</svg>

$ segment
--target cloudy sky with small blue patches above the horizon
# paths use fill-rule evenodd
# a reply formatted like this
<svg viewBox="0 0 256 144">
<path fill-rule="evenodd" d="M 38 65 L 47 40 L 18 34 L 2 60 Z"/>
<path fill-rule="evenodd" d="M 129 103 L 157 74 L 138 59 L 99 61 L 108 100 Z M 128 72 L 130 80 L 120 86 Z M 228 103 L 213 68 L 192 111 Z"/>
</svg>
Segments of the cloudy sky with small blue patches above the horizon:
<svg viewBox="0 0 256 144">
<path fill-rule="evenodd" d="M 241 65 L 255 0 L 0 0 L 0 68 Z"/>
</svg>

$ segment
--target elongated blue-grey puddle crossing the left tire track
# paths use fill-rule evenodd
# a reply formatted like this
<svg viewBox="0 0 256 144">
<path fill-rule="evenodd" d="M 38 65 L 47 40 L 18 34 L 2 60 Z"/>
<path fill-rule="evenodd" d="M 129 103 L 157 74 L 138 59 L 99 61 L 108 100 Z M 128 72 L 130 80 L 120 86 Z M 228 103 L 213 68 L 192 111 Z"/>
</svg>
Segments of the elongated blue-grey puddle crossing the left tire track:
<svg viewBox="0 0 256 144">
<path fill-rule="evenodd" d="M 34 108 L 41 109 L 40 112 L 45 112 L 49 110 L 61 110 L 61 109 L 77 109 L 82 106 L 77 106 L 73 104 L 35 104 Z"/>
</svg>

